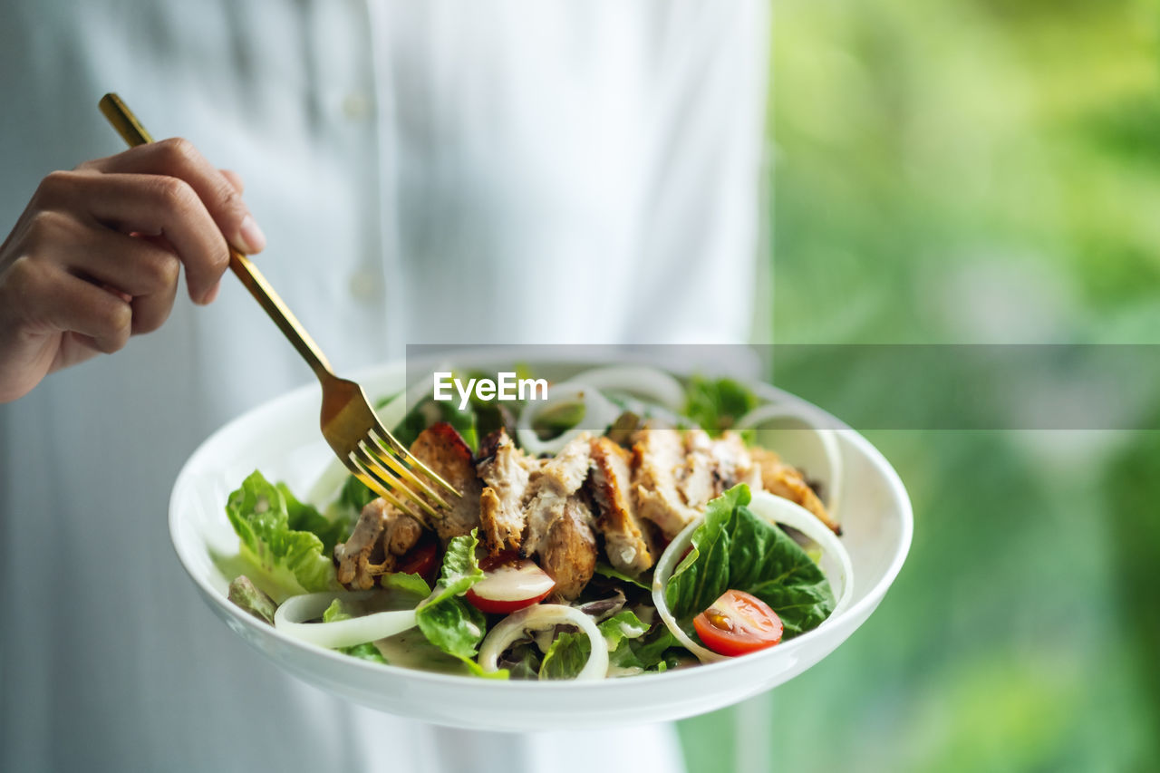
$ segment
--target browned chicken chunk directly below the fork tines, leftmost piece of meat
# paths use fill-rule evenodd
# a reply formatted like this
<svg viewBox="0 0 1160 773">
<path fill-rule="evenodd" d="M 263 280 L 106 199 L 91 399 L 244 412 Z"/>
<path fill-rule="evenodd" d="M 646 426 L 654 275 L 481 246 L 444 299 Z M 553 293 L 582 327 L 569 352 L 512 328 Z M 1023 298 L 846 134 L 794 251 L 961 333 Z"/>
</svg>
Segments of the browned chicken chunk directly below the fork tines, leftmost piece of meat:
<svg viewBox="0 0 1160 773">
<path fill-rule="evenodd" d="M 394 569 L 398 556 L 415 547 L 423 527 L 411 515 L 378 498 L 358 514 L 350 537 L 334 546 L 339 581 L 351 590 L 375 586 L 379 575 Z"/>
</svg>

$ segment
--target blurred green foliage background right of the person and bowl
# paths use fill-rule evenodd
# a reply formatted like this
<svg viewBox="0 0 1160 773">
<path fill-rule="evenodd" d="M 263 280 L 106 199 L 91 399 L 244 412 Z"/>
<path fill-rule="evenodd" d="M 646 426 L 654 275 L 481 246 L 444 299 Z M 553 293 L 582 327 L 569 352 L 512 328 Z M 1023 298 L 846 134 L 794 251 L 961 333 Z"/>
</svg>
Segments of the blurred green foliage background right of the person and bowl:
<svg viewBox="0 0 1160 773">
<path fill-rule="evenodd" d="M 773 340 L 1157 342 L 1158 31 L 1143 0 L 777 3 Z M 1160 434 L 868 435 L 902 573 L 767 732 L 682 722 L 690 771 L 1160 766 Z"/>
</svg>

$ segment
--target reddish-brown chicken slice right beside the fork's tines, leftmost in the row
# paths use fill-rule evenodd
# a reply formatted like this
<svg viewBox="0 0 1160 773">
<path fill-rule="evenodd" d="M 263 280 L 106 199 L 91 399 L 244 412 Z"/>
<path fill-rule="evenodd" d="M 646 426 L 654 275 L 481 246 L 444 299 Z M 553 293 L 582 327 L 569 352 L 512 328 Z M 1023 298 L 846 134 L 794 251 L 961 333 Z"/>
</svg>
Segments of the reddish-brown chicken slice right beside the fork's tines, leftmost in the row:
<svg viewBox="0 0 1160 773">
<path fill-rule="evenodd" d="M 411 453 L 429 467 L 436 475 L 455 486 L 459 497 L 440 493 L 442 486 L 428 482 L 432 490 L 440 493 L 451 505 L 450 510 L 438 510 L 437 516 L 427 514 L 438 539 L 447 544 L 451 537 L 471 534 L 479 526 L 479 498 L 483 484 L 476 476 L 471 448 L 450 424 L 433 424 L 411 443 Z"/>
</svg>

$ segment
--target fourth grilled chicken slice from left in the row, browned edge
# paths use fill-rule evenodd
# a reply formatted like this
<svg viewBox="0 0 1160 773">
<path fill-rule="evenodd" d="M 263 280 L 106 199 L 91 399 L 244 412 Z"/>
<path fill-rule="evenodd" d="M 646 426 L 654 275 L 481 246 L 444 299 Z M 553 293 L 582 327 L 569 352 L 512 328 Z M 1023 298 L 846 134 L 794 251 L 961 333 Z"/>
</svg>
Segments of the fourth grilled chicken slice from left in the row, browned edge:
<svg viewBox="0 0 1160 773">
<path fill-rule="evenodd" d="M 592 441 L 592 493 L 600 511 L 596 528 L 604 535 L 609 563 L 636 576 L 653 565 L 655 551 L 637 520 L 631 463 L 632 454 L 608 438 Z"/>
</svg>

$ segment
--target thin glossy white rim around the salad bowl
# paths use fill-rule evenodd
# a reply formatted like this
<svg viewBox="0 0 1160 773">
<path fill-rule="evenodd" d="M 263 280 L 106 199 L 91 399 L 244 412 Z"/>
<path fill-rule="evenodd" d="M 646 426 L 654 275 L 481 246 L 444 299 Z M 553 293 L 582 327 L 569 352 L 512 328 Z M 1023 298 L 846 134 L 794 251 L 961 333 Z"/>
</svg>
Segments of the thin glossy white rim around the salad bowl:
<svg viewBox="0 0 1160 773">
<path fill-rule="evenodd" d="M 467 356 L 463 356 L 458 351 L 448 351 L 443 353 L 440 359 L 448 359 L 456 362 L 466 362 L 469 360 L 483 360 L 486 362 L 492 362 L 502 359 L 501 353 L 505 349 L 496 348 L 488 352 L 486 355 L 481 351 L 472 351 Z M 628 357 L 626 357 L 628 359 Z M 639 360 L 636 360 L 639 362 Z M 579 357 L 577 360 L 568 360 L 566 357 L 554 359 L 554 360 L 541 360 L 539 363 L 551 362 L 552 364 L 559 366 L 574 366 L 574 367 L 599 367 L 600 362 L 593 362 L 592 360 Z M 606 361 L 606 364 L 609 362 Z M 397 359 L 390 360 L 376 366 L 370 366 L 361 368 L 354 373 L 353 378 L 357 383 L 369 383 L 372 381 L 385 380 L 391 376 L 392 370 L 403 368 L 405 374 L 406 362 L 405 360 Z M 672 367 L 672 364 L 660 366 L 666 371 L 675 375 L 679 378 L 687 378 L 693 375 L 689 370 L 680 370 Z M 867 591 L 865 595 L 858 599 L 855 604 L 843 609 L 839 615 L 828 617 L 825 622 L 829 623 L 826 627 L 819 626 L 813 630 L 806 631 L 799 636 L 793 637 L 789 642 L 778 644 L 775 648 L 769 648 L 759 652 L 752 652 L 744 658 L 728 658 L 725 660 L 719 660 L 716 663 L 701 663 L 696 666 L 690 666 L 687 669 L 673 669 L 661 673 L 643 673 L 635 674 L 633 677 L 646 677 L 650 684 L 658 680 L 664 680 L 666 685 L 677 685 L 684 681 L 693 681 L 704 678 L 706 674 L 712 677 L 719 674 L 725 669 L 737 669 L 739 664 L 756 666 L 762 659 L 774 659 L 784 658 L 788 656 L 788 651 L 791 653 L 793 651 L 803 649 L 807 644 L 812 644 L 815 640 L 826 635 L 829 630 L 833 630 L 841 626 L 843 622 L 849 623 L 851 621 L 861 621 L 868 616 L 873 608 L 882 601 L 885 597 L 886 591 L 893 584 L 894 579 L 901 571 L 902 564 L 909 554 L 911 543 L 914 536 L 914 513 L 911 505 L 909 496 L 907 494 L 906 486 L 902 484 L 898 476 L 898 472 L 890 464 L 885 456 L 861 433 L 856 429 L 849 427 L 844 422 L 840 421 L 831 413 L 824 409 L 805 400 L 797 395 L 792 395 L 782 390 L 773 384 L 768 384 L 759 378 L 753 377 L 737 377 L 742 381 L 747 386 L 753 389 L 759 397 L 767 400 L 785 400 L 791 403 L 798 403 L 806 405 L 812 410 L 820 411 L 822 416 L 827 417 L 833 421 L 833 431 L 841 435 L 841 438 L 850 442 L 858 451 L 861 451 L 865 458 L 871 463 L 871 465 L 880 474 L 882 478 L 886 482 L 887 489 L 891 497 L 900 504 L 898 510 L 900 534 L 899 541 L 896 546 L 894 552 L 891 556 L 890 563 L 887 564 L 885 571 L 878 581 Z M 420 682 L 427 682 L 432 686 L 441 687 L 454 687 L 457 689 L 466 691 L 486 691 L 494 693 L 495 691 L 509 692 L 509 693 L 524 693 L 528 691 L 538 693 L 543 691 L 556 691 L 565 689 L 573 693 L 587 693 L 592 691 L 618 691 L 618 689 L 636 689 L 644 686 L 644 684 L 636 678 L 616 678 L 616 679 L 600 679 L 593 681 L 577 681 L 577 680 L 550 680 L 550 681 L 536 681 L 536 680 L 521 680 L 521 679 L 481 679 L 479 677 L 466 676 L 466 674 L 449 674 L 440 673 L 435 671 L 425 671 L 422 669 L 411 669 L 406 666 L 398 666 L 392 664 L 378 664 L 362 660 L 360 658 L 351 658 L 348 655 L 336 652 L 334 650 L 328 650 L 310 642 L 304 642 L 299 638 L 290 636 L 283 631 L 275 629 L 273 626 L 264 623 L 253 615 L 246 613 L 244 609 L 237 605 L 230 602 L 230 600 L 218 592 L 210 583 L 201 576 L 197 571 L 197 564 L 201 563 L 193 555 L 193 546 L 186 544 L 180 539 L 180 532 L 182 529 L 181 519 L 179 514 L 182 512 L 184 501 L 179 499 L 179 494 L 184 493 L 184 489 L 191 485 L 188 478 L 194 475 L 196 469 L 203 464 L 203 457 L 209 455 L 209 451 L 220 442 L 220 438 L 232 432 L 238 424 L 248 422 L 255 420 L 256 417 L 264 416 L 267 413 L 278 413 L 285 410 L 287 404 L 296 403 L 303 400 L 309 393 L 317 392 L 318 385 L 313 382 L 303 384 L 295 389 L 291 389 L 282 395 L 278 395 L 269 400 L 260 403 L 247 411 L 240 413 L 233 419 L 226 421 L 224 425 L 215 429 L 205 440 L 203 440 L 193 454 L 182 464 L 177 477 L 174 481 L 173 489 L 169 496 L 169 512 L 168 512 L 168 527 L 169 527 L 169 541 L 173 546 L 174 551 L 177 554 L 177 559 L 181 562 L 182 568 L 189 578 L 201 591 L 202 595 L 205 597 L 208 601 L 211 601 L 216 608 L 215 612 L 219 615 L 225 613 L 237 624 L 247 627 L 253 635 L 256 636 L 273 636 L 281 645 L 289 645 L 292 649 L 299 650 L 303 653 L 322 657 L 328 659 L 334 664 L 342 664 L 340 667 L 353 667 L 355 670 L 363 670 L 365 674 L 374 677 L 377 674 L 378 679 L 383 678 L 396 678 L 401 677 L 406 679 L 418 680 Z M 321 435 L 319 435 L 319 443 L 322 443 Z M 223 515 L 224 518 L 224 515 Z M 204 546 L 204 543 L 203 543 Z M 341 591 L 335 591 L 335 593 L 341 593 Z M 855 624 L 855 628 L 860 626 L 861 622 Z M 238 631 L 235 631 L 238 633 Z M 850 631 L 853 633 L 853 630 Z M 849 636 L 847 634 L 846 636 Z M 844 641 L 842 637 L 841 641 Z M 251 642 L 253 643 L 253 642 Z"/>
</svg>

